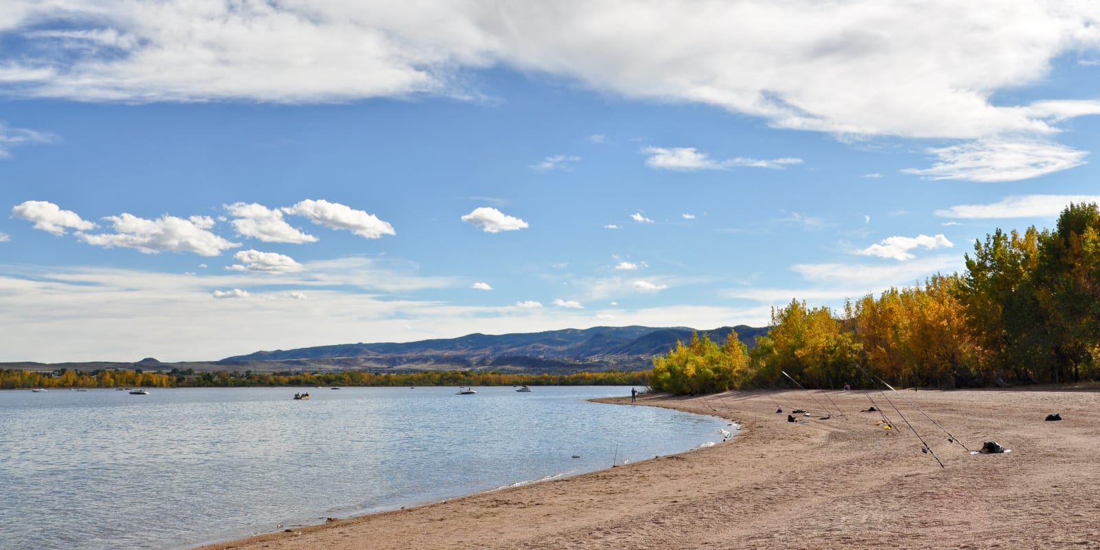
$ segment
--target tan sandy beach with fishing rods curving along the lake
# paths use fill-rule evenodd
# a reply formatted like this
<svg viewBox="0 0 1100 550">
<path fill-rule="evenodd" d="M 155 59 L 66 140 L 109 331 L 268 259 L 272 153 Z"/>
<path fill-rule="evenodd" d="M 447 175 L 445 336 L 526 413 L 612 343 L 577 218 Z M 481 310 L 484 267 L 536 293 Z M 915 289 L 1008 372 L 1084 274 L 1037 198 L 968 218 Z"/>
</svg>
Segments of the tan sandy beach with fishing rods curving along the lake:
<svg viewBox="0 0 1100 550">
<path fill-rule="evenodd" d="M 1100 549 L 1100 393 L 903 395 L 911 404 L 888 397 L 944 468 L 879 393 L 893 430 L 860 411 L 871 402 L 856 391 L 645 395 L 638 405 L 743 430 L 681 455 L 204 548 Z M 914 405 L 969 450 L 996 440 L 1011 452 L 970 454 Z M 792 424 L 794 408 L 833 414 Z"/>
</svg>

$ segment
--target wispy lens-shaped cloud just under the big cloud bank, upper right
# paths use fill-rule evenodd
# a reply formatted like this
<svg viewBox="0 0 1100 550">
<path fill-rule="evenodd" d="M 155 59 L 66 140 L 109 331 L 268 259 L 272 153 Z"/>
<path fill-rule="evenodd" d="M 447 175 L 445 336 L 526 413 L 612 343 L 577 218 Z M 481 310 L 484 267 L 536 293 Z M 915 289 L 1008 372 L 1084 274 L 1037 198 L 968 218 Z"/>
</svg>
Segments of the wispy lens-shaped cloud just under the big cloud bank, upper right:
<svg viewBox="0 0 1100 550">
<path fill-rule="evenodd" d="M 902 172 L 928 179 L 1015 182 L 1085 164 L 1085 151 L 1048 141 L 983 140 L 931 148 L 939 158 L 928 168 Z"/>
</svg>

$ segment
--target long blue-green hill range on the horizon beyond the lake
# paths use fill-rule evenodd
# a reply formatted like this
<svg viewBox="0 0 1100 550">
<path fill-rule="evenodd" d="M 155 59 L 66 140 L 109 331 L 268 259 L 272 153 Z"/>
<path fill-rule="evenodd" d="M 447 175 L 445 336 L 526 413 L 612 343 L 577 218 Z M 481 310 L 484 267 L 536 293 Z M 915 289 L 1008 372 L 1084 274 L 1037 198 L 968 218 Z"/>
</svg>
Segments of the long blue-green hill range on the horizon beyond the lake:
<svg viewBox="0 0 1100 550">
<path fill-rule="evenodd" d="M 724 342 L 730 330 L 747 345 L 767 328 L 744 324 L 698 331 Z M 668 353 L 676 341 L 691 339 L 686 327 L 594 327 L 512 334 L 468 334 L 418 342 L 353 343 L 257 351 L 226 358 L 220 364 L 282 363 L 287 369 L 331 367 L 400 371 L 495 370 L 578 372 L 649 369 L 653 355 Z M 266 370 L 266 369 L 265 369 Z"/>
</svg>

